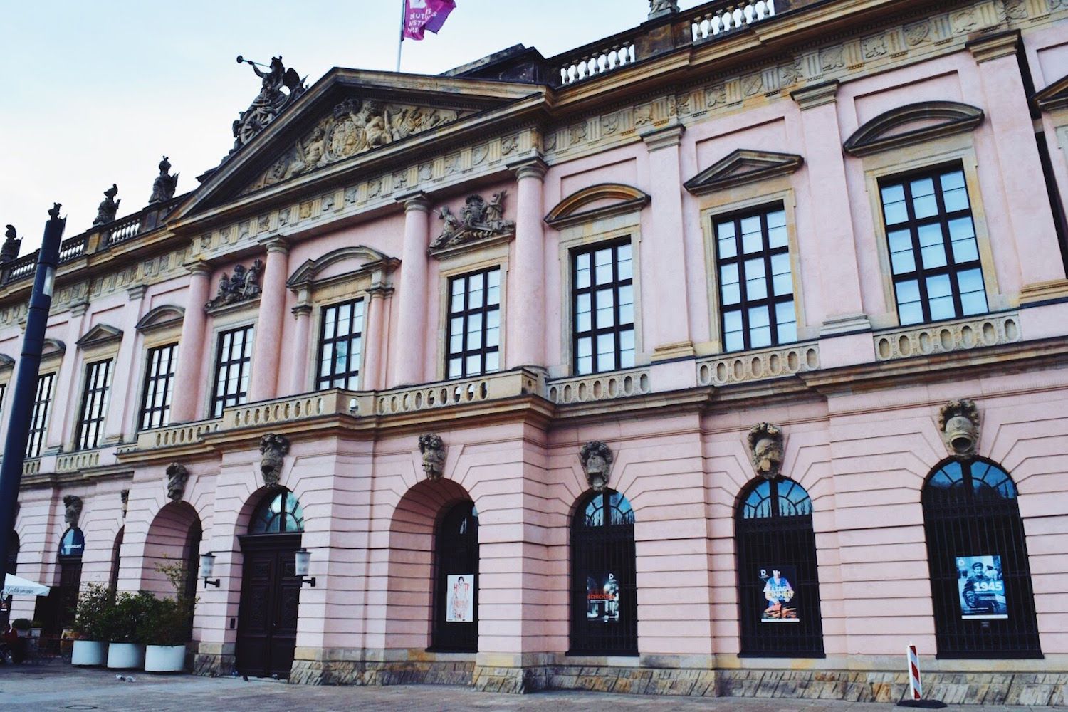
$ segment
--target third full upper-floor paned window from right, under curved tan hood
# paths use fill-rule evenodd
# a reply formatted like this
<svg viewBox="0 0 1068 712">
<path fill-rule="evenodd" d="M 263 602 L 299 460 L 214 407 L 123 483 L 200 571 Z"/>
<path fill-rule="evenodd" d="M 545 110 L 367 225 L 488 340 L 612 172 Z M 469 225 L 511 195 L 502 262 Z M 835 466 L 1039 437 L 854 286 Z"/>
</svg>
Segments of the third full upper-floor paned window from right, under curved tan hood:
<svg viewBox="0 0 1068 712">
<path fill-rule="evenodd" d="M 634 281 L 630 238 L 571 253 L 575 373 L 634 365 Z"/>
</svg>

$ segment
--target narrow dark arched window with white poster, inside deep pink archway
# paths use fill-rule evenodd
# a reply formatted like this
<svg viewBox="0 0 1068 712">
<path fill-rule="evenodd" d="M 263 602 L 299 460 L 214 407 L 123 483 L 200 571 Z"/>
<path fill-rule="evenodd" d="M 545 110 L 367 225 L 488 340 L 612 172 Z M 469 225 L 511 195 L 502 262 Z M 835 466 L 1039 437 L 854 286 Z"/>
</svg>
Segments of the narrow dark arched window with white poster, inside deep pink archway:
<svg viewBox="0 0 1068 712">
<path fill-rule="evenodd" d="M 430 649 L 478 650 L 478 512 L 461 502 L 438 524 Z"/>
</svg>

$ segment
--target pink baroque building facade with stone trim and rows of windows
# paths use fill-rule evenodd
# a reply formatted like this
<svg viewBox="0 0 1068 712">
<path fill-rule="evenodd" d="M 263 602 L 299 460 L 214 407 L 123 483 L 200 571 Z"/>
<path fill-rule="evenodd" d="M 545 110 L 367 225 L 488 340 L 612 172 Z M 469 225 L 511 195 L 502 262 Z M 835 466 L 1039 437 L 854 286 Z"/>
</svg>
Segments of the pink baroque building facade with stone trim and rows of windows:
<svg viewBox="0 0 1068 712">
<path fill-rule="evenodd" d="M 1068 699 L 1068 3 L 656 4 L 267 76 L 68 238 L 38 617 L 211 552 L 205 675 L 896 699 L 913 642 L 947 701 Z"/>
</svg>

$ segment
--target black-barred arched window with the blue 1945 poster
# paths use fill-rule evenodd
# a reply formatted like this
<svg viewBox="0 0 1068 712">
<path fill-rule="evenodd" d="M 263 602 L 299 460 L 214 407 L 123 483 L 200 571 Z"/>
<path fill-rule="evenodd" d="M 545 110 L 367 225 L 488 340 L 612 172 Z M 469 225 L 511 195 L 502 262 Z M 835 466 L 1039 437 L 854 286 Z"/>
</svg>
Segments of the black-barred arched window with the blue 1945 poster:
<svg viewBox="0 0 1068 712">
<path fill-rule="evenodd" d="M 939 658 L 1041 658 L 1012 477 L 951 460 L 923 491 Z"/>
</svg>

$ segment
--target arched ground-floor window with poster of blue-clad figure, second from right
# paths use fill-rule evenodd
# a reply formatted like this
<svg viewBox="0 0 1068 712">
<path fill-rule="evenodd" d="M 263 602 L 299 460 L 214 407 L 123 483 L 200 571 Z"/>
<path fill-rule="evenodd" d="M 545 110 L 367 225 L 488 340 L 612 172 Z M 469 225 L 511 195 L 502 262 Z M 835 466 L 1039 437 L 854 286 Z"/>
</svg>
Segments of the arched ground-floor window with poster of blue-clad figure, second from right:
<svg viewBox="0 0 1068 712">
<path fill-rule="evenodd" d="M 812 500 L 792 479 L 756 479 L 735 515 L 741 655 L 822 658 Z"/>
</svg>

